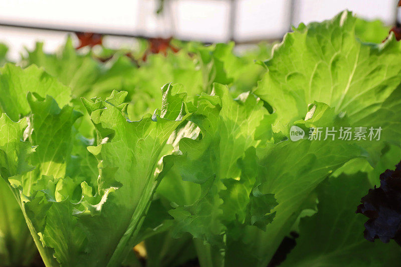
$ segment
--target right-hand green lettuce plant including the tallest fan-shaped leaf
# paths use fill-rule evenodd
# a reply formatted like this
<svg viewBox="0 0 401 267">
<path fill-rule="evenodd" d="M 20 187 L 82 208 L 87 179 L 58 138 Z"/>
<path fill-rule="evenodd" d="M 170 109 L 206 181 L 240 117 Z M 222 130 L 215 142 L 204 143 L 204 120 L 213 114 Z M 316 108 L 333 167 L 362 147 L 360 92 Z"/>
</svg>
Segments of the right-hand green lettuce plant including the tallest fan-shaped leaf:
<svg viewBox="0 0 401 267">
<path fill-rule="evenodd" d="M 253 91 L 272 114 L 247 113 L 255 104 L 244 105 L 242 111 L 231 107 L 218 85 L 212 92 L 215 99 L 209 97 L 204 104 L 199 97 L 189 120 L 202 135 L 198 140 L 182 139 L 182 155 L 173 157 L 180 176 L 200 184 L 201 194 L 191 205 L 174 203 L 170 214 L 176 232 L 195 237 L 201 265 L 266 266 L 283 238 L 315 208 L 315 188 L 326 177 L 350 160 L 375 166 L 388 143 L 400 145 L 399 45 L 392 36 L 383 44 L 362 43 L 355 25 L 356 19 L 343 12 L 331 21 L 301 24 L 286 35 L 264 62 L 267 73 Z M 239 97 L 245 103 L 250 99 Z M 209 103 L 217 109 L 203 112 Z M 229 115 L 224 110 L 230 110 Z M 245 114 L 247 119 L 241 117 Z M 381 127 L 382 135 L 378 141 L 324 141 L 323 136 L 321 141 L 293 142 L 292 125 L 307 137 L 309 129 L 341 126 Z M 237 130 L 242 127 L 254 130 L 245 132 L 245 138 Z M 211 141 L 214 134 L 218 137 Z M 249 143 L 237 143 L 236 138 Z M 244 156 L 252 147 L 256 156 L 250 161 L 257 165 L 247 168 Z M 247 170 L 253 170 L 255 183 L 248 183 Z M 267 202 L 252 200 L 269 195 Z M 263 205 L 253 208 L 254 203 Z M 271 219 L 258 221 L 261 217 Z M 330 264 L 331 258 L 326 260 Z"/>
</svg>

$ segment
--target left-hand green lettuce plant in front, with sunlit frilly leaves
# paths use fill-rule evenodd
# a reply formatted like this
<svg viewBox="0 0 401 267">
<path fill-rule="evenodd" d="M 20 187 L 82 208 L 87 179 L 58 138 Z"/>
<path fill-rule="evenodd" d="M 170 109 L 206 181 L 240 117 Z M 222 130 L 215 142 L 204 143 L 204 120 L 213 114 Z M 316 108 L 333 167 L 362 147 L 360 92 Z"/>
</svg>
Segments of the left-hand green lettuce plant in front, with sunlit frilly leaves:
<svg viewBox="0 0 401 267">
<path fill-rule="evenodd" d="M 10 76 L 8 84 L 30 82 Z M 61 84 L 54 84 L 54 90 L 54 95 L 69 96 Z M 2 177 L 12 186 L 46 265 L 121 264 L 135 244 L 158 183 L 164 144 L 189 114 L 185 95 L 171 90 L 169 84 L 163 87 L 161 110 L 140 121 L 126 117 L 126 92 L 113 92 L 105 101 L 83 99 L 96 129 L 96 143 L 88 150 L 98 161 L 99 176 L 82 173 L 88 165 L 85 152 L 73 154 L 82 153 L 74 147 L 74 124 L 82 114 L 68 104 L 69 98 L 60 99 L 66 103 L 60 108 L 53 97 L 44 98 L 37 90 L 10 112 L 13 118 L 26 118 L 14 122 L 3 113 Z M 3 104 L 7 111 L 12 103 Z"/>
</svg>

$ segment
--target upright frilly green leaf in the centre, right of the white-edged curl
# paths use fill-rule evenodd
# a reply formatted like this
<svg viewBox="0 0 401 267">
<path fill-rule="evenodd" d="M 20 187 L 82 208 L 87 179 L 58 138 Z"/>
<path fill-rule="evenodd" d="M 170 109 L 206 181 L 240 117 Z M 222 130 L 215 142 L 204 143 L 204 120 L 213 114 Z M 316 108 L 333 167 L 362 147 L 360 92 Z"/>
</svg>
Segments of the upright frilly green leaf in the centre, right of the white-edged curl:
<svg viewBox="0 0 401 267">
<path fill-rule="evenodd" d="M 200 128 L 202 139 L 182 138 L 182 155 L 166 158 L 184 181 L 200 184 L 199 198 L 185 205 L 185 194 L 180 195 L 180 204 L 175 202 L 170 214 L 177 233 L 189 232 L 195 238 L 204 265 L 224 264 L 226 235 L 232 224 L 264 227 L 273 218 L 269 214 L 276 204 L 274 196 L 253 190 L 258 185 L 255 175 L 242 172 L 243 166 L 238 165 L 240 159 L 252 162 L 256 157 L 255 151 L 246 151 L 259 143 L 254 133 L 265 115 L 267 110 L 254 95 L 246 93 L 233 100 L 227 86 L 215 84 L 212 95 L 199 96 L 197 110 L 189 119 Z"/>
</svg>

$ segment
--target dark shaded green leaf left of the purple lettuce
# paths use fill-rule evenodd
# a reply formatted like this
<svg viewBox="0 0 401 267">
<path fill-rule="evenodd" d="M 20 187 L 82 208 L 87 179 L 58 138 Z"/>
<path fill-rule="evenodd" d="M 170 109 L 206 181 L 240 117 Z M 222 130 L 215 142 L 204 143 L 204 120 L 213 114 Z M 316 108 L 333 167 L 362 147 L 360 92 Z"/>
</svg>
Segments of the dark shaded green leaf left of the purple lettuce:
<svg viewBox="0 0 401 267">
<path fill-rule="evenodd" d="M 283 266 L 397 266 L 400 248 L 363 237 L 360 198 L 370 188 L 367 174 L 331 177 L 317 189 L 318 213 L 301 219 L 296 246 Z"/>
</svg>

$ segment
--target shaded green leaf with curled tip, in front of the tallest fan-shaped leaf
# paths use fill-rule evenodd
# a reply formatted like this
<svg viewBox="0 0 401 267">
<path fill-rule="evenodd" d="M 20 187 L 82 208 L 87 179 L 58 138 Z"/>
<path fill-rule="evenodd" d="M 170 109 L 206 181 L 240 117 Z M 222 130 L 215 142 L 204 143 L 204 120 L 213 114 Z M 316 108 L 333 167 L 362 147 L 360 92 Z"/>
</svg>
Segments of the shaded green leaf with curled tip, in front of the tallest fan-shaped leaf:
<svg viewBox="0 0 401 267">
<path fill-rule="evenodd" d="M 334 109 L 322 103 L 315 103 L 313 110 L 315 112 L 309 113 L 308 120 L 298 121 L 296 125 L 328 127 L 344 123 L 346 119 L 335 115 Z M 294 142 L 284 137 L 284 140 L 280 137 L 279 142 L 275 140 L 257 148 L 258 164 L 263 167 L 258 190 L 262 194 L 274 194 L 278 205 L 272 210 L 275 217 L 266 225 L 265 231 L 249 226 L 239 233 L 237 239 L 240 242 L 233 240 L 227 256 L 233 266 L 267 265 L 302 211 L 313 208 L 309 195 L 316 186 L 350 159 L 363 155 L 352 142 L 308 140 L 308 136 Z"/>
</svg>

